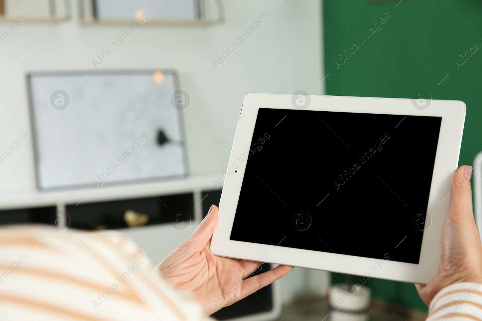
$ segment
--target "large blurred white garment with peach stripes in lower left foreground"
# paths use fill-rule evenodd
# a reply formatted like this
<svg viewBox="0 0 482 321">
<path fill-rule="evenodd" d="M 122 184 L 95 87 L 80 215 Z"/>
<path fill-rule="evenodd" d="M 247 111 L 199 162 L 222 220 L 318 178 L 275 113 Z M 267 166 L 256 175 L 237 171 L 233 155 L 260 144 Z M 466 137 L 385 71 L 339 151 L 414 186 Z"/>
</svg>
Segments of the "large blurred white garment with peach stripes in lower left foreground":
<svg viewBox="0 0 482 321">
<path fill-rule="evenodd" d="M 208 321 L 117 231 L 0 228 L 0 320 Z"/>
</svg>

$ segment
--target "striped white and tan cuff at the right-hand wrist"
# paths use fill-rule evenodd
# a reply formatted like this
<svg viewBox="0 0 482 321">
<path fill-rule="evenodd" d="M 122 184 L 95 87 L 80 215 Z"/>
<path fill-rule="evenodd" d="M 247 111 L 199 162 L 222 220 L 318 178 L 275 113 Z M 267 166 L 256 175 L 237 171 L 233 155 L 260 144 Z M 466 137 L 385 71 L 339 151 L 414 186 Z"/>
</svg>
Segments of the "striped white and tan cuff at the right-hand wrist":
<svg viewBox="0 0 482 321">
<path fill-rule="evenodd" d="M 427 321 L 482 321 L 482 284 L 454 283 L 430 303 Z"/>
</svg>

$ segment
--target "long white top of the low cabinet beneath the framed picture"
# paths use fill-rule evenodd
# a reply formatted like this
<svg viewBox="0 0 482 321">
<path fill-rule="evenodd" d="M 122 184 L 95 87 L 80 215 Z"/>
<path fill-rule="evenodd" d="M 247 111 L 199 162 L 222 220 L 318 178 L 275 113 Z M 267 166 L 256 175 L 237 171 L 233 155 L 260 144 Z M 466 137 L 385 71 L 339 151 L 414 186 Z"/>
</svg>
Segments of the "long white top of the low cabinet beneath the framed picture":
<svg viewBox="0 0 482 321">
<path fill-rule="evenodd" d="M 65 189 L 55 191 L 39 191 L 30 189 L 32 193 L 12 193 L 0 195 L 0 209 L 15 209 L 41 206 L 63 206 L 82 203 L 93 203 L 126 198 L 152 197 L 180 193 L 199 193 L 215 189 L 213 180 L 217 174 L 189 176 L 183 179 L 144 181 L 123 185 L 105 185 L 97 190 L 94 187 Z M 83 199 L 82 199 L 83 198 Z"/>
</svg>

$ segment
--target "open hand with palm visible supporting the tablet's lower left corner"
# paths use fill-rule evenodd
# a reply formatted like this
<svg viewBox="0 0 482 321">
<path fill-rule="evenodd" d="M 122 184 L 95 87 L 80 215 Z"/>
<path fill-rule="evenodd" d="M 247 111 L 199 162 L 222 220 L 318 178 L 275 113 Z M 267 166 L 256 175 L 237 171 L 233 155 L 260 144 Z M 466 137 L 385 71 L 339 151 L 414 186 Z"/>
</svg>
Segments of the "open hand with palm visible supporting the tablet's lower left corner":
<svg viewBox="0 0 482 321">
<path fill-rule="evenodd" d="M 218 208 L 212 205 L 194 233 L 156 268 L 175 288 L 193 293 L 208 314 L 278 280 L 293 267 L 280 265 L 246 280 L 261 262 L 217 257 L 209 250 Z"/>
</svg>

